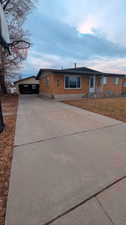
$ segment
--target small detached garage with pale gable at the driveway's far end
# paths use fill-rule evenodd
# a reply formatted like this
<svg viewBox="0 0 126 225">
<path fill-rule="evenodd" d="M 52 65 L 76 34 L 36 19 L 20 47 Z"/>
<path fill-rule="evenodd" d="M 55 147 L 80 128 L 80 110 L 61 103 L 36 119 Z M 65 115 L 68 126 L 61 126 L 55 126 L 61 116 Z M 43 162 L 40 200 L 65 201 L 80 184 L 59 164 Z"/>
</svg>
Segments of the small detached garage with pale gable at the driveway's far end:
<svg viewBox="0 0 126 225">
<path fill-rule="evenodd" d="M 27 77 L 14 82 L 17 94 L 38 94 L 39 81 L 35 76 Z"/>
</svg>

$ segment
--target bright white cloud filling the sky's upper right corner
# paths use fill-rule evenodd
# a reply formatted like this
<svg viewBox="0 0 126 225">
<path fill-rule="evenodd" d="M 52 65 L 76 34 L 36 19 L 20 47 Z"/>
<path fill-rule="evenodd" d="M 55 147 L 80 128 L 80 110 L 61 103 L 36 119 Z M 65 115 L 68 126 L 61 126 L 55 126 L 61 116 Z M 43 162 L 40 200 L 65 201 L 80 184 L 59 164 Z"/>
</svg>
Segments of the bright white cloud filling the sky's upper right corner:
<svg viewBox="0 0 126 225">
<path fill-rule="evenodd" d="M 125 0 L 69 0 L 68 23 L 80 33 L 93 34 L 98 29 L 108 40 L 126 46 Z"/>
</svg>

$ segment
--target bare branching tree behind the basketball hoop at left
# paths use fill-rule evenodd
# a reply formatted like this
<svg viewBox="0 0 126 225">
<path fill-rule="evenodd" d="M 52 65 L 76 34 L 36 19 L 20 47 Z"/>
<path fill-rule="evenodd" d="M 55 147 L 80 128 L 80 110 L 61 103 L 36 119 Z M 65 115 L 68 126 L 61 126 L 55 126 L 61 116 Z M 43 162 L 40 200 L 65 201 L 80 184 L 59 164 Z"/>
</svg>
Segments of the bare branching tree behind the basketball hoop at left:
<svg viewBox="0 0 126 225">
<path fill-rule="evenodd" d="M 2 79 L 2 89 L 5 93 L 5 76 L 12 76 L 12 71 L 17 70 L 19 65 L 27 58 L 27 48 L 29 44 L 29 34 L 24 30 L 23 24 L 27 16 L 34 7 L 34 0 L 1 0 L 5 11 L 9 33 L 11 55 L 0 50 L 0 77 Z M 26 47 L 27 46 L 27 47 Z M 17 73 L 13 73 L 16 74 Z M 14 76 L 14 75 L 13 75 Z"/>
</svg>

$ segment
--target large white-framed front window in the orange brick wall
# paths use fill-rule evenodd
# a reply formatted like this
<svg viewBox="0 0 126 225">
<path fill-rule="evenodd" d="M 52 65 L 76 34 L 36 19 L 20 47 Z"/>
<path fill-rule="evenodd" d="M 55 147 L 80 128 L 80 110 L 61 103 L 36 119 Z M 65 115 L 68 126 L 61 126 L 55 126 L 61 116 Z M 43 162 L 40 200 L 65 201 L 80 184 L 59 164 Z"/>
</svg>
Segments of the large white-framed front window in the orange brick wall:
<svg viewBox="0 0 126 225">
<path fill-rule="evenodd" d="M 80 89 L 81 82 L 79 76 L 65 76 L 65 88 Z"/>
</svg>

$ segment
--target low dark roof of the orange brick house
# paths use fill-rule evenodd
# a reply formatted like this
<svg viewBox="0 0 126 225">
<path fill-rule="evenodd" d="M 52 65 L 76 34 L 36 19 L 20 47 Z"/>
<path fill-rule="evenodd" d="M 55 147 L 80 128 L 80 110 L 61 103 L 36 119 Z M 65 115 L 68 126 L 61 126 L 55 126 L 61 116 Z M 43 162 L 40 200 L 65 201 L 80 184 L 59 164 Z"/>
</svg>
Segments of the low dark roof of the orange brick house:
<svg viewBox="0 0 126 225">
<path fill-rule="evenodd" d="M 116 74 L 116 73 L 104 73 L 104 72 L 100 72 L 97 70 L 93 70 L 87 67 L 77 67 L 77 68 L 68 68 L 68 69 L 40 69 L 39 73 L 36 77 L 36 79 L 38 80 L 39 77 L 41 76 L 41 74 L 43 72 L 54 72 L 54 73 L 58 73 L 58 74 L 76 74 L 76 75 L 83 75 L 83 76 L 91 76 L 91 75 L 95 75 L 95 76 L 120 76 L 120 77 L 124 77 L 126 76 L 126 74 Z"/>
</svg>

